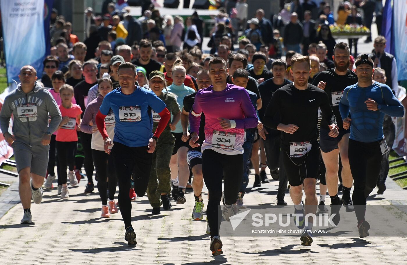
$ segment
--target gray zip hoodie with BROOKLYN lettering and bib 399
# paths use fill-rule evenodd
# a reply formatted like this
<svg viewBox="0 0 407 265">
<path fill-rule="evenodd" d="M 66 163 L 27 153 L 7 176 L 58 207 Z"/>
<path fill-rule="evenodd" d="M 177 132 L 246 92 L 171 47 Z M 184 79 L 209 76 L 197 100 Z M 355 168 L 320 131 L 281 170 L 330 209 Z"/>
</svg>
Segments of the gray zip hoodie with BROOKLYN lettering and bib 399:
<svg viewBox="0 0 407 265">
<path fill-rule="evenodd" d="M 0 112 L 0 128 L 3 133 L 9 130 L 12 114 L 16 141 L 30 146 L 40 145 L 45 132 L 52 134 L 61 123 L 61 112 L 54 97 L 37 82 L 28 94 L 18 84 L 17 89 L 4 99 Z M 49 126 L 48 117 L 51 117 Z"/>
</svg>

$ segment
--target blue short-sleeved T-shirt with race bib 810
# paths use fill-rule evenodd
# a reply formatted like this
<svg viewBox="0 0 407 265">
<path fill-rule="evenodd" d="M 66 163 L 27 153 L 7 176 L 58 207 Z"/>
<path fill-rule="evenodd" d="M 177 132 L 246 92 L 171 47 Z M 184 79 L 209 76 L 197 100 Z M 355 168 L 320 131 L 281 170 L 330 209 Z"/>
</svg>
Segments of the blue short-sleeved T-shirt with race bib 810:
<svg viewBox="0 0 407 265">
<path fill-rule="evenodd" d="M 114 113 L 116 124 L 113 141 L 139 147 L 147 146 L 153 136 L 151 109 L 160 113 L 164 108 L 165 103 L 153 91 L 136 86 L 130 95 L 123 94 L 121 87 L 109 92 L 99 110 L 103 115 L 107 115 L 110 109 Z"/>
</svg>

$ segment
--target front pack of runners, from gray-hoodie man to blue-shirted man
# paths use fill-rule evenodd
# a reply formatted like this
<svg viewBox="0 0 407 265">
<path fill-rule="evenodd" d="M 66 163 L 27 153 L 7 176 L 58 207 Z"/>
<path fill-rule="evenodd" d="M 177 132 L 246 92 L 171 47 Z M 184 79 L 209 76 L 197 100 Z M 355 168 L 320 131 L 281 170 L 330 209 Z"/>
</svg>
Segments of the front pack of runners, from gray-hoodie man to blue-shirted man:
<svg viewBox="0 0 407 265">
<path fill-rule="evenodd" d="M 172 66 L 173 84 L 168 87 L 164 73 L 151 71 L 147 89 L 137 85 L 136 66 L 120 61 L 115 70 L 120 86 L 114 89 L 108 75 L 97 82 L 89 78 L 89 88 L 98 84 L 98 96 L 84 108 L 81 102 L 80 106 L 72 103 L 74 89 L 66 84 L 59 88 L 61 102 L 57 103 L 52 93 L 35 81 L 35 69 L 24 66 L 20 71 L 21 84 L 6 97 L 0 113 L 0 127 L 14 149 L 20 175 L 22 223 L 32 222 L 31 198 L 34 203 L 42 200 L 41 187 L 47 170 L 44 165 L 48 163 L 51 137 L 57 130 L 61 197 L 69 197 L 67 167 L 70 185 L 77 185 L 74 143 L 78 141 L 75 130 L 78 128 L 90 135 L 89 150 L 98 176 L 102 217 L 118 212 L 114 201 L 118 182 L 118 203 L 129 245 L 136 245 L 136 232 L 131 225 L 131 181 L 137 197 L 147 193 L 152 213 L 160 214 L 161 205 L 164 210 L 171 208 L 170 196 L 177 204 L 186 202 L 190 168 L 195 197 L 192 219 L 204 217 L 205 183 L 210 251 L 214 256 L 222 254 L 219 223 L 222 216 L 230 221 L 236 208 L 245 207 L 249 158 L 258 133 L 267 166 L 274 174 L 273 179 L 280 181 L 279 205 L 287 204 L 284 192 L 288 182 L 294 213 L 305 216 L 317 212 L 315 186 L 321 175 L 322 157 L 326 180 L 321 179 L 320 185 L 326 184 L 328 188 L 331 215 L 335 214 L 333 221 L 339 223 L 339 210 L 345 205 L 347 211 L 356 213 L 360 237 L 368 236 L 370 226 L 364 218 L 366 197 L 376 185 L 383 154 L 389 149 L 383 137 L 383 119 L 385 114 L 403 116 L 404 108 L 387 85 L 372 80 L 373 61 L 367 55 L 356 59 L 353 72 L 348 69 L 347 44 L 337 44 L 333 53 L 335 67 L 317 74 L 312 84 L 308 56 L 291 58 L 289 71 L 293 82 L 284 78 L 287 63 L 275 60 L 271 64 L 273 77 L 258 88 L 260 101 L 249 87 L 250 79 L 244 70 L 247 60 L 239 54 L 231 55 L 228 62 L 221 57 L 209 60 L 209 70 L 197 73 L 197 91 L 184 85 L 186 70 L 182 64 Z M 84 69 L 86 66 L 93 78 L 96 66 L 85 62 Z M 12 114 L 13 134 L 8 132 Z M 253 150 L 259 151 L 258 147 Z M 338 197 L 339 155 L 342 198 Z M 92 178 L 88 170 L 86 173 Z M 268 182 L 266 179 L 261 178 L 263 183 Z M 324 205 L 324 201 L 321 189 L 319 205 Z M 310 231 L 313 219 L 309 218 L 307 227 L 304 217 L 296 220 L 305 229 L 300 239 L 306 246 L 313 242 Z"/>
</svg>

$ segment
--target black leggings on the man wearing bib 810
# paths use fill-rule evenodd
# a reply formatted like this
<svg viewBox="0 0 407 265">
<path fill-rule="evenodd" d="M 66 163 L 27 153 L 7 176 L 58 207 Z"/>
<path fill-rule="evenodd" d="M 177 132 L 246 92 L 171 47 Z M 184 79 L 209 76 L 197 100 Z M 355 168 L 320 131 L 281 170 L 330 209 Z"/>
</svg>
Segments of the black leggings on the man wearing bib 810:
<svg viewBox="0 0 407 265">
<path fill-rule="evenodd" d="M 127 228 L 131 226 L 130 176 L 133 173 L 134 191 L 137 197 L 144 196 L 149 184 L 153 154 L 147 152 L 147 146 L 129 147 L 114 142 L 110 155 L 113 155 L 119 182 L 120 213 Z"/>
</svg>

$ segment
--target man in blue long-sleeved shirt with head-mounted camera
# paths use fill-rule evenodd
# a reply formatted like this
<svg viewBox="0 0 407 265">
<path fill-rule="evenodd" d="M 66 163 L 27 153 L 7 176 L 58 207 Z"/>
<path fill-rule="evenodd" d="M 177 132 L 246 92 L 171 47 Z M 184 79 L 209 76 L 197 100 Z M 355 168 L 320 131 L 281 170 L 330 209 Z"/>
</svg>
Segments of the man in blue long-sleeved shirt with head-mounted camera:
<svg viewBox="0 0 407 265">
<path fill-rule="evenodd" d="M 383 155 L 389 152 L 383 136 L 383 120 L 403 117 L 404 107 L 386 84 L 372 80 L 373 60 L 362 54 L 355 61 L 359 82 L 344 90 L 339 102 L 344 129 L 350 128 L 349 165 L 354 178 L 355 214 L 359 236 L 369 235 L 370 225 L 365 221 L 366 198 L 379 178 Z M 352 119 L 348 117 L 351 115 Z"/>
</svg>

